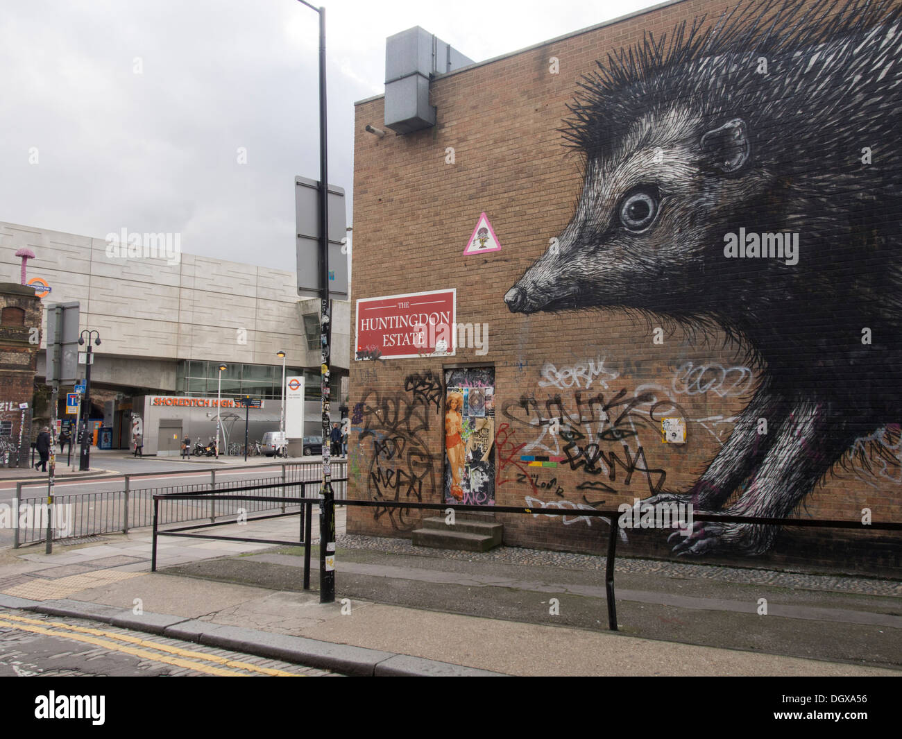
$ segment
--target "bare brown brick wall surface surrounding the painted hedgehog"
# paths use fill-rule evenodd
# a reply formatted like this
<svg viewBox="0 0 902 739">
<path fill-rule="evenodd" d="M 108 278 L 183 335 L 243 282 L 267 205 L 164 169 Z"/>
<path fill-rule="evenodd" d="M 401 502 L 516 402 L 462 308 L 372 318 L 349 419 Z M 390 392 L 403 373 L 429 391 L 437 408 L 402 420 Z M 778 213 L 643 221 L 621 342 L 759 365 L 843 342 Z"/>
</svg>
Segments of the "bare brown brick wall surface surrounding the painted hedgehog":
<svg viewBox="0 0 902 739">
<path fill-rule="evenodd" d="M 873 345 L 861 344 L 859 324 L 852 326 L 854 335 L 846 344 L 835 337 L 837 322 L 845 318 L 843 311 L 851 310 L 853 302 L 864 300 L 862 296 L 875 316 L 886 312 L 892 303 L 888 294 L 882 297 L 871 294 L 863 285 L 868 279 L 875 284 L 880 282 L 883 273 L 896 267 L 880 266 L 875 257 L 874 261 L 862 261 L 860 269 L 852 270 L 845 261 L 848 253 L 837 247 L 830 267 L 833 273 L 824 273 L 824 263 L 815 263 L 814 254 L 817 229 L 823 224 L 808 224 L 810 238 L 805 242 L 804 213 L 796 221 L 796 229 L 785 229 L 802 231 L 800 270 L 811 270 L 791 273 L 786 278 L 795 281 L 787 282 L 787 300 L 792 297 L 792 291 L 803 297 L 796 295 L 796 303 L 784 305 L 779 302 L 783 294 L 779 281 L 784 279 L 784 273 L 780 272 L 773 280 L 759 275 L 764 279 L 756 289 L 774 301 L 775 315 L 782 322 L 778 328 L 783 331 L 776 348 L 771 347 L 767 363 L 753 363 L 750 341 L 729 343 L 721 328 L 703 331 L 693 320 L 668 321 L 660 310 L 625 309 L 646 307 L 659 293 L 663 296 L 662 304 L 676 307 L 677 312 L 683 304 L 698 305 L 704 300 L 709 300 L 712 309 L 732 306 L 733 312 L 737 301 L 748 300 L 749 310 L 753 310 L 757 293 L 741 297 L 744 295 L 741 289 L 734 292 L 728 289 L 731 281 L 738 278 L 735 273 L 723 272 L 723 229 L 717 232 L 714 224 L 715 251 L 699 254 L 699 260 L 694 262 L 702 265 L 701 273 L 708 270 L 704 274 L 707 282 L 702 283 L 701 290 L 686 290 L 689 284 L 686 281 L 697 281 L 699 270 L 693 268 L 690 274 L 685 265 L 676 262 L 682 255 L 664 248 L 665 237 L 679 233 L 677 229 L 686 224 L 665 221 L 667 234 L 659 237 L 661 251 L 649 254 L 647 246 L 641 246 L 647 251 L 633 265 L 630 274 L 636 294 L 641 293 L 648 301 L 646 304 L 630 305 L 628 296 L 623 307 L 590 306 L 564 312 L 539 310 L 526 315 L 512 313 L 503 300 L 511 286 L 548 250 L 551 239 L 559 237 L 561 248 L 570 248 L 562 232 L 574 217 L 584 179 L 581 158 L 562 146 L 564 139 L 557 129 L 562 125 L 562 118 L 568 115 L 566 105 L 573 101 L 582 76 L 596 69 L 596 60 L 606 60 L 609 52 L 641 42 L 643 32 L 654 32 L 656 37 L 664 32 L 669 34 L 676 23 L 688 19 L 691 24 L 693 17 L 701 14 L 708 14 L 710 23 L 710 19 L 729 6 L 702 0 L 676 3 L 437 79 L 432 84 L 437 125 L 418 133 L 400 136 L 388 132 L 382 139 L 367 134 L 365 125 L 383 126 L 383 100 L 376 98 L 356 106 L 354 300 L 456 288 L 457 321 L 487 324 L 489 350 L 484 356 L 477 356 L 474 347 L 458 347 L 456 356 L 446 358 L 352 361 L 349 402 L 352 496 L 441 503 L 446 464 L 444 399 L 437 405 L 425 402 L 405 390 L 405 384 L 409 377 L 428 372 L 441 377 L 448 366 L 492 365 L 496 374 L 496 503 L 529 504 L 537 509 L 548 505 L 575 511 L 564 520 L 542 515 L 498 515 L 504 523 L 505 542 L 598 551 L 607 540 L 608 526 L 598 519 L 581 518 L 578 509 L 616 507 L 659 491 L 694 489 L 700 476 L 712 474 L 709 466 L 715 456 L 721 454 L 723 461 L 724 445 L 756 388 L 765 381 L 763 368 L 769 367 L 771 374 L 782 373 L 782 382 L 787 387 L 796 382 L 802 388 L 799 392 L 805 398 L 810 393 L 814 400 L 810 406 L 803 403 L 793 407 L 794 401 L 788 398 L 792 393 L 787 390 L 781 396 L 779 411 L 771 409 L 772 412 L 762 414 L 769 416 L 771 428 L 769 439 L 761 439 L 761 448 L 767 449 L 773 439 L 774 443 L 786 444 L 787 452 L 782 456 L 775 452 L 767 469 L 755 467 L 752 473 L 746 469 L 749 478 L 743 482 L 741 476 L 731 491 L 725 491 L 731 495 L 721 507 L 735 506 L 741 491 L 748 488 L 757 486 L 753 492 L 758 497 L 745 498 L 746 510 L 768 500 L 768 496 L 787 498 L 791 485 L 801 485 L 804 489 L 796 491 L 789 501 L 797 515 L 857 521 L 862 509 L 868 508 L 874 521 L 902 521 L 899 461 L 902 452 L 898 419 L 893 416 L 898 408 L 898 391 L 894 388 L 899 383 L 893 375 L 897 369 L 892 366 L 902 353 L 897 343 L 898 331 L 888 330 L 897 318 L 881 319 L 880 326 L 886 330 Z M 440 33 L 440 29 L 436 31 Z M 557 73 L 550 71 L 552 58 L 557 58 Z M 778 74 L 779 69 L 771 72 Z M 842 78 L 837 79 L 837 84 L 840 83 Z M 792 97 L 785 95 L 773 105 L 785 105 L 787 101 L 792 104 Z M 674 102 L 673 98 L 667 100 L 667 104 Z M 728 109 L 729 106 L 724 106 L 724 110 Z M 649 115 L 656 113 L 659 111 L 649 107 Z M 654 120 L 652 116 L 652 125 Z M 712 129 L 721 123 L 716 116 L 712 121 Z M 877 117 L 870 124 L 874 132 L 886 128 L 885 122 Z M 898 150 L 897 128 L 893 131 L 895 142 L 887 143 Z M 698 133 L 704 133 L 704 128 L 698 129 Z M 753 134 L 759 135 L 757 131 Z M 791 128 L 781 128 L 777 122 L 759 141 L 792 135 Z M 689 139 L 690 143 L 698 142 L 698 136 Z M 862 134 L 862 140 L 865 139 L 868 135 Z M 667 148 L 669 144 L 663 145 Z M 815 146 L 814 141 L 810 146 Z M 448 163 L 449 147 L 454 150 L 453 163 Z M 675 144 L 674 148 L 678 146 Z M 667 152 L 670 156 L 669 148 Z M 859 156 L 858 148 L 853 154 Z M 755 155 L 763 154 L 754 150 L 752 156 Z M 759 162 L 760 159 L 753 160 L 736 177 L 724 176 L 723 189 L 718 189 L 712 199 L 695 201 L 691 218 L 713 218 L 711 214 L 717 213 L 720 205 L 729 204 L 731 183 L 744 182 L 747 175 L 751 177 L 757 172 L 754 167 Z M 835 162 L 827 164 L 835 166 Z M 627 166 L 638 164 L 628 162 Z M 823 170 L 824 166 L 824 161 L 815 157 L 809 169 L 817 172 L 817 168 Z M 616 179 L 611 174 L 613 169 L 611 166 L 608 170 L 609 179 Z M 848 168 L 841 173 L 848 174 Z M 712 178 L 718 176 L 716 171 L 709 174 Z M 692 187 L 697 181 L 692 180 Z M 787 181 L 792 185 L 792 178 L 780 181 L 780 187 L 786 186 Z M 673 186 L 672 182 L 667 184 Z M 772 189 L 769 185 L 762 188 Z M 867 189 L 867 183 L 861 189 Z M 895 190 L 893 197 L 897 197 L 898 191 Z M 612 204 L 623 193 L 615 195 L 603 208 L 598 204 L 595 207 L 616 216 Z M 768 191 L 762 192 L 760 197 L 764 200 L 756 202 L 769 202 L 768 196 Z M 756 224 L 761 224 L 761 231 L 769 230 L 761 220 L 762 212 L 769 215 L 767 208 L 745 214 L 750 230 Z M 463 257 L 467 239 L 483 211 L 491 219 L 502 250 Z M 661 219 L 671 217 L 671 212 L 662 206 Z M 866 223 L 863 231 L 879 232 L 884 243 L 887 239 L 892 242 L 892 234 L 887 236 L 888 229 L 891 231 L 889 219 L 882 211 L 878 215 L 876 210 L 871 210 L 866 218 L 874 219 L 874 223 Z M 882 223 L 878 223 L 881 218 Z M 603 226 L 598 228 L 603 231 Z M 587 300 L 593 295 L 597 298 L 604 289 L 593 291 L 586 284 L 603 281 L 605 275 L 600 272 L 620 269 L 624 260 L 631 258 L 629 250 L 622 246 L 623 237 L 612 238 L 621 239 L 622 258 L 611 270 L 600 270 L 597 261 L 587 263 L 585 250 L 581 252 L 575 247 L 556 263 L 557 269 L 567 270 L 573 276 L 581 288 L 580 294 L 590 296 Z M 671 247 L 679 246 L 673 240 L 667 243 Z M 879 246 L 879 239 L 874 243 Z M 869 248 L 874 243 L 869 242 Z M 826 254 L 824 258 L 829 262 L 830 256 Z M 670 265 L 665 269 L 667 262 Z M 635 272 L 639 268 L 644 273 Z M 747 273 L 756 268 L 750 266 Z M 673 277 L 675 273 L 681 274 L 681 269 L 689 275 L 683 281 L 685 284 Z M 850 272 L 855 274 L 850 277 Z M 803 276 L 800 278 L 799 274 Z M 824 301 L 824 309 L 818 312 L 813 306 L 822 302 L 824 282 L 839 286 L 841 294 Z M 676 296 L 670 303 L 667 303 L 668 291 Z M 797 305 L 805 309 L 804 317 L 799 317 L 794 307 Z M 864 315 L 861 326 L 879 322 L 876 318 L 867 319 L 866 311 Z M 846 346 L 852 348 L 847 350 Z M 875 346 L 875 352 L 883 353 L 869 353 L 868 346 Z M 352 357 L 355 348 L 352 336 Z M 875 356 L 880 357 L 879 363 L 886 364 L 874 369 L 869 363 Z M 861 371 L 856 369 L 851 381 L 837 379 L 848 378 L 851 367 L 859 367 Z M 799 375 L 804 377 L 800 379 Z M 595 411 L 589 402 L 592 399 Z M 860 413 L 852 411 L 853 401 L 859 403 L 856 409 L 862 405 L 866 409 Z M 604 407 L 608 409 L 606 424 L 604 413 L 598 410 Z M 810 424 L 805 428 L 802 428 L 807 422 L 803 411 L 810 411 L 807 419 Z M 622 418 L 614 418 L 624 413 Z M 685 444 L 662 443 L 660 417 L 663 415 L 686 420 Z M 583 436 L 575 438 L 571 432 L 570 439 L 561 439 L 552 435 L 550 420 L 554 417 L 569 419 L 569 428 Z M 878 417 L 879 422 L 874 420 Z M 855 425 L 850 426 L 852 421 Z M 885 428 L 884 424 L 890 425 Z M 850 428 L 858 431 L 851 433 Z M 808 449 L 800 454 L 792 445 L 797 446 L 799 435 L 805 433 L 810 434 Z M 407 445 L 398 448 L 391 460 L 384 455 L 381 458 L 374 447 L 374 441 L 386 436 L 401 439 L 400 443 Z M 566 452 L 568 445 L 570 451 Z M 816 457 L 822 454 L 821 450 L 829 456 L 830 449 L 837 445 L 846 448 L 847 453 L 845 457 L 836 456 L 833 460 L 836 464 L 827 460 L 825 466 L 830 472 L 820 484 L 793 482 L 796 469 L 807 470 L 810 475 L 811 469 L 819 468 Z M 409 452 L 413 448 L 417 454 L 411 460 Z M 425 453 L 421 453 L 423 449 Z M 852 453 L 857 459 L 852 460 Z M 557 467 L 530 467 L 520 460 L 526 454 L 575 459 L 561 462 Z M 764 455 L 762 451 L 761 458 Z M 761 459 L 751 463 L 747 458 L 743 461 L 740 450 L 733 461 L 739 468 L 742 464 L 754 466 Z M 382 482 L 377 483 L 375 479 L 382 467 L 409 472 L 413 469 L 418 483 L 413 489 L 406 482 L 392 487 L 385 484 L 386 476 L 381 476 Z M 781 478 L 784 471 L 788 471 L 786 479 Z M 695 492 L 698 492 L 697 485 Z M 348 528 L 358 533 L 408 536 L 419 518 L 420 514 L 414 511 L 377 510 L 374 514 L 373 509 L 351 508 Z M 772 544 L 768 542 L 768 546 L 759 548 L 764 551 L 718 546 L 708 560 L 746 565 L 804 563 L 850 572 L 898 574 L 902 571 L 897 537 L 876 532 L 813 531 L 784 531 Z M 661 531 L 628 533 L 630 541 L 624 551 L 670 555 L 667 537 Z M 723 538 L 713 541 L 724 543 Z M 754 555 L 752 559 L 750 553 Z"/>
</svg>

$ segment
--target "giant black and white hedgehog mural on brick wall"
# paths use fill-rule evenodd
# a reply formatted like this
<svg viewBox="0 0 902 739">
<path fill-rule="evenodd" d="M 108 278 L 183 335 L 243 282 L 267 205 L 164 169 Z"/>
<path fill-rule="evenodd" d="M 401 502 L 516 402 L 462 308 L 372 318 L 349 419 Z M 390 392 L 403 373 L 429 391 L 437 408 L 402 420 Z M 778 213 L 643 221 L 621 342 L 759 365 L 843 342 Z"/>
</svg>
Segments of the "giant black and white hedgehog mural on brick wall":
<svg viewBox="0 0 902 739">
<path fill-rule="evenodd" d="M 584 156 L 575 215 L 508 307 L 722 328 L 762 368 L 691 490 L 650 502 L 786 517 L 855 439 L 900 420 L 900 15 L 745 3 L 647 34 L 580 82 L 561 129 Z M 675 550 L 759 554 L 777 531 L 696 522 Z"/>
</svg>

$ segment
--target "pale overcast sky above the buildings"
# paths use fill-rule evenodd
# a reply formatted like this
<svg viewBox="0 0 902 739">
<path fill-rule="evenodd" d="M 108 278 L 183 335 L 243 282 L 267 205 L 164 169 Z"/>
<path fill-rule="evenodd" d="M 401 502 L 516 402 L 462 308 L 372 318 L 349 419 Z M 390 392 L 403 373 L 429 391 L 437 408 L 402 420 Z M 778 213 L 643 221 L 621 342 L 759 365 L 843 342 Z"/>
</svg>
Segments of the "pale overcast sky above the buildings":
<svg viewBox="0 0 902 739">
<path fill-rule="evenodd" d="M 419 25 L 482 61 L 655 4 L 324 5 L 329 180 L 350 225 L 354 101 L 383 92 L 386 36 Z M 318 14 L 297 0 L 4 0 L 0 220 L 180 234 L 188 254 L 293 271 L 294 175 L 319 176 L 317 65 Z"/>
</svg>

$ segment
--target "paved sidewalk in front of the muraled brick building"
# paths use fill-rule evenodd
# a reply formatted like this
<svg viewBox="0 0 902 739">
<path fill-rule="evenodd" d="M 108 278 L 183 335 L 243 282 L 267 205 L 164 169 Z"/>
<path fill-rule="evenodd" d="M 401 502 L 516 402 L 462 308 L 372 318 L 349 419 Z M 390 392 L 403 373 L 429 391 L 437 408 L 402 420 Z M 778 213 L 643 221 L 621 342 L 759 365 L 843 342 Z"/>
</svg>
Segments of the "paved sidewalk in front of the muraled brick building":
<svg viewBox="0 0 902 739">
<path fill-rule="evenodd" d="M 0 550 L 0 614 L 93 619 L 354 675 L 902 673 L 897 581 L 618 559 L 620 631 L 609 632 L 603 557 L 350 536 L 340 507 L 336 530 L 335 603 L 319 603 L 316 547 L 305 591 L 296 544 L 161 537 L 152 573 L 142 530 L 51 555 Z M 292 542 L 298 520 L 213 531 Z"/>
</svg>

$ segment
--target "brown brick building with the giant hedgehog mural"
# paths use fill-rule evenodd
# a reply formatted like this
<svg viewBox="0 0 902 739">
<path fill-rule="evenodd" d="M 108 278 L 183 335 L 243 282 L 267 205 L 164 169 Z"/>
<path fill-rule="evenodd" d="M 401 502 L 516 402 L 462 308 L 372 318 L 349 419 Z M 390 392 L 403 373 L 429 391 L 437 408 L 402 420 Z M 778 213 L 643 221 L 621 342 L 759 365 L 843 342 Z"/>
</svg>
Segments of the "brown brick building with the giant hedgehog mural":
<svg viewBox="0 0 902 739">
<path fill-rule="evenodd" d="M 411 133 L 365 131 L 384 97 L 356 105 L 353 497 L 565 508 L 496 518 L 507 544 L 580 551 L 609 531 L 581 510 L 667 491 L 902 521 L 897 10 L 789 0 L 770 40 L 741 20 L 686 46 L 729 7 L 670 3 L 433 75 L 436 124 Z M 637 51 L 684 22 L 682 56 Z M 348 529 L 422 518 L 350 508 Z M 895 533 L 770 531 L 709 526 L 696 553 L 902 571 Z M 667 533 L 624 531 L 623 550 L 671 556 Z"/>
</svg>

